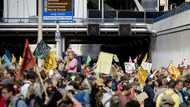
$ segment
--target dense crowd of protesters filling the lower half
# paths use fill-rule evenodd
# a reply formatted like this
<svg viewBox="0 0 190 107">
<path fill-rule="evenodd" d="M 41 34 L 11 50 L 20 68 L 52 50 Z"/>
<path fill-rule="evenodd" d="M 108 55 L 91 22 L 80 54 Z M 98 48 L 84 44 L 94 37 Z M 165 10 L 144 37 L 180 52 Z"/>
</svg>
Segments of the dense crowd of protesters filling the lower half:
<svg viewBox="0 0 190 107">
<path fill-rule="evenodd" d="M 178 79 L 167 68 L 152 70 L 143 87 L 138 70 L 126 73 L 117 63 L 110 75 L 96 76 L 96 61 L 79 60 L 72 50 L 56 69 L 25 70 L 16 79 L 19 65 L 0 67 L 0 107 L 188 107 L 190 67 L 181 67 Z M 80 63 L 80 64 L 79 64 Z M 152 75 L 154 74 L 154 75 Z M 42 81 L 41 81 L 42 80 Z"/>
</svg>

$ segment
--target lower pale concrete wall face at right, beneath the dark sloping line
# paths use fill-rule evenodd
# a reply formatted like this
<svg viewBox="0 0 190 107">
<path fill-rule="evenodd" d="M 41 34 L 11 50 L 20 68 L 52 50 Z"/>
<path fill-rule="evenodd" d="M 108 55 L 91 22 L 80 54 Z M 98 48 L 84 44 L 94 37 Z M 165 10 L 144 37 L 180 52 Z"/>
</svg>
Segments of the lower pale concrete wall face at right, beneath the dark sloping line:
<svg viewBox="0 0 190 107">
<path fill-rule="evenodd" d="M 177 65 L 184 58 L 187 59 L 186 64 L 190 64 L 189 34 L 190 30 L 185 30 L 154 38 L 154 49 L 151 51 L 153 67 L 167 67 L 171 62 Z"/>
</svg>

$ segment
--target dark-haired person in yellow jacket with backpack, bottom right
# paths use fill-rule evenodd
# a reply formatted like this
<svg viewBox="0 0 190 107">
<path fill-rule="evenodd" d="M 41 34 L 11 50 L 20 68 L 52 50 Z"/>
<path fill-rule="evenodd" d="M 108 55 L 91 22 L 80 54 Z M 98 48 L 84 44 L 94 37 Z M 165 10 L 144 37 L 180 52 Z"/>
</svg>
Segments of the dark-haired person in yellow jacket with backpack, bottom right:
<svg viewBox="0 0 190 107">
<path fill-rule="evenodd" d="M 174 90 L 175 81 L 168 83 L 168 89 L 156 99 L 156 107 L 180 107 L 179 95 Z"/>
</svg>

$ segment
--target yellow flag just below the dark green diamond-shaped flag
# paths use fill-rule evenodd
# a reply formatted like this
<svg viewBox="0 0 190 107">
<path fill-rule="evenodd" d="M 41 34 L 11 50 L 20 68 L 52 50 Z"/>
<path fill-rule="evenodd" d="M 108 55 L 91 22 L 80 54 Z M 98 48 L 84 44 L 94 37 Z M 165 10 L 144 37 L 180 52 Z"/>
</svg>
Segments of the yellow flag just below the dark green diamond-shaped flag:
<svg viewBox="0 0 190 107">
<path fill-rule="evenodd" d="M 57 68 L 57 59 L 55 51 L 50 51 L 48 56 L 44 59 L 44 68 L 48 72 Z"/>
</svg>

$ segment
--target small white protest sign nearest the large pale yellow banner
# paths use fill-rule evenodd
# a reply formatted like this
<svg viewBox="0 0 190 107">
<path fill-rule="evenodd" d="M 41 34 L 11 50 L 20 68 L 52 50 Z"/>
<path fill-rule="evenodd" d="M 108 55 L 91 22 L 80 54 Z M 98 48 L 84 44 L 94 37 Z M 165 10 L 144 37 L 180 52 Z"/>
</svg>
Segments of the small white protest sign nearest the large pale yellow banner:
<svg viewBox="0 0 190 107">
<path fill-rule="evenodd" d="M 125 62 L 124 65 L 126 73 L 133 73 L 135 71 L 135 63 Z"/>
</svg>

